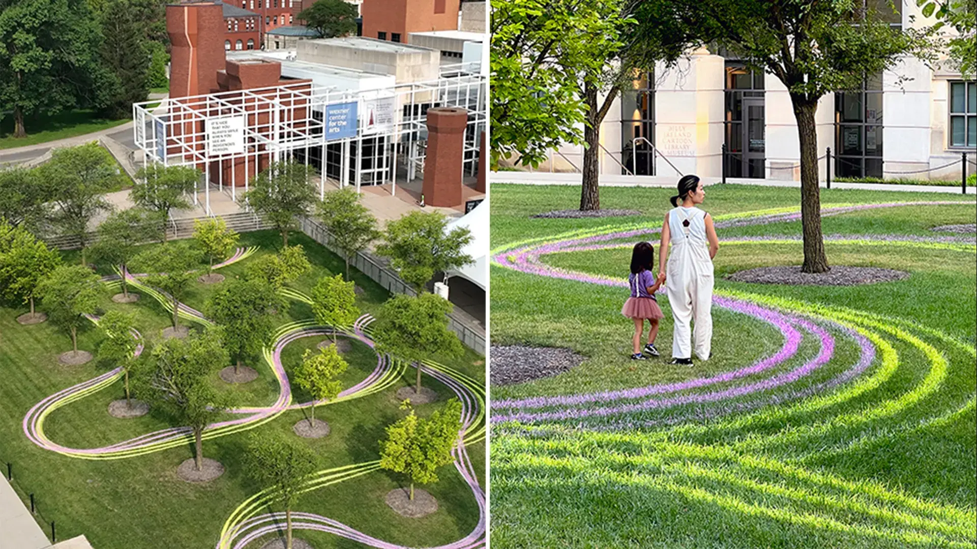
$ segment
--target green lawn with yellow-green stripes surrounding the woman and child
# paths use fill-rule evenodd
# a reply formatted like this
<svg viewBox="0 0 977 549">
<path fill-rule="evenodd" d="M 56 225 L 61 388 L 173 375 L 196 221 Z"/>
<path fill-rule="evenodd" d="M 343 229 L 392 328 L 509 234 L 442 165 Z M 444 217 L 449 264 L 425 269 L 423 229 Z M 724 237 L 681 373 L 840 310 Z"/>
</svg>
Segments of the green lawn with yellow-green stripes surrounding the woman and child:
<svg viewBox="0 0 977 549">
<path fill-rule="evenodd" d="M 550 241 L 554 235 L 646 223 L 659 227 L 670 189 L 605 188 L 603 208 L 644 216 L 534 219 L 573 208 L 572 186 L 492 185 L 492 248 Z M 827 235 L 933 238 L 930 227 L 972 223 L 973 199 L 882 191 L 823 189 L 824 206 L 960 200 L 826 216 Z M 741 185 L 706 188 L 703 208 L 719 217 L 797 205 L 796 189 Z M 720 229 L 720 239 L 799 238 L 799 221 Z M 623 279 L 630 246 L 541 255 L 561 272 Z M 556 239 L 559 240 L 559 239 Z M 972 241 L 971 241 L 972 242 Z M 797 243 L 721 244 L 716 293 L 810 310 L 834 337 L 829 360 L 781 386 L 721 401 L 691 397 L 786 375 L 813 361 L 821 338 L 801 330 L 796 354 L 763 373 L 642 398 L 588 405 L 550 404 L 524 412 L 597 411 L 568 419 L 496 423 L 491 429 L 491 545 L 654 548 L 973 547 L 977 542 L 977 267 L 973 249 L 832 243 L 832 264 L 881 266 L 910 278 L 859 287 L 734 283 L 746 268 L 799 264 Z M 658 250 L 656 250 L 658 252 Z M 491 340 L 569 347 L 586 357 L 570 372 L 492 386 L 493 403 L 528 397 L 588 395 L 676 383 L 741 369 L 784 344 L 774 326 L 714 307 L 714 358 L 694 369 L 667 364 L 672 320 L 667 298 L 659 359 L 628 360 L 632 325 L 619 310 L 626 289 L 491 266 Z M 854 311 L 841 312 L 839 308 Z M 877 319 L 860 316 L 880 315 Z M 850 314 L 854 316 L 845 317 Z M 860 360 L 860 344 L 837 322 L 867 333 L 875 358 L 840 384 L 831 380 Z M 647 400 L 679 399 L 660 408 Z M 689 400 L 681 401 L 689 397 Z M 691 402 L 690 402 L 691 401 Z M 684 404 L 683 404 L 684 403 Z M 621 410 L 612 407 L 621 405 Z M 493 414 L 512 412 L 494 409 Z M 606 413 L 605 413 L 606 412 Z"/>
</svg>

